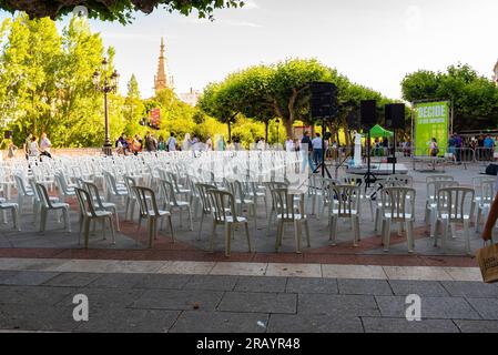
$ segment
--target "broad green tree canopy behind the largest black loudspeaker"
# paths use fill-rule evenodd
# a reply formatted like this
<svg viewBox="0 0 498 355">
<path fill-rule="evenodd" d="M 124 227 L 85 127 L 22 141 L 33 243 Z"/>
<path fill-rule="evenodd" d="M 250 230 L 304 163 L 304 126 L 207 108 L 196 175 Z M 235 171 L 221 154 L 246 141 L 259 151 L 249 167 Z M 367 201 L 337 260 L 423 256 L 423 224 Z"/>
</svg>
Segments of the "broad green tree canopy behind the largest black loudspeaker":
<svg viewBox="0 0 498 355">
<path fill-rule="evenodd" d="M 200 106 L 224 123 L 234 113 L 264 122 L 266 126 L 268 121 L 278 118 L 286 134 L 293 136 L 296 121 L 316 123 L 309 114 L 308 84 L 313 81 L 333 82 L 338 88 L 336 129 L 348 129 L 347 115 L 359 109 L 362 100 L 377 100 L 379 111 L 385 103 L 392 102 L 379 92 L 352 83 L 315 59 L 289 59 L 271 65 L 251 67 L 230 74 L 222 82 L 210 84 Z"/>
</svg>

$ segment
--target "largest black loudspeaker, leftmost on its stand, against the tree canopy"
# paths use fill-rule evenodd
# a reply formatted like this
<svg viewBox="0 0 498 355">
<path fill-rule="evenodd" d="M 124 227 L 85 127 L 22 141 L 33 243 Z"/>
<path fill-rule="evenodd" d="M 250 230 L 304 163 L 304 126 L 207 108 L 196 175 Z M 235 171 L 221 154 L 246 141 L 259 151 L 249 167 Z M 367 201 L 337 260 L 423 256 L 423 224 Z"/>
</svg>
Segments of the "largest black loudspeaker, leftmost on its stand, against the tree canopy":
<svg viewBox="0 0 498 355">
<path fill-rule="evenodd" d="M 338 113 L 337 87 L 331 82 L 312 82 L 311 111 L 314 119 L 331 120 Z"/>
</svg>

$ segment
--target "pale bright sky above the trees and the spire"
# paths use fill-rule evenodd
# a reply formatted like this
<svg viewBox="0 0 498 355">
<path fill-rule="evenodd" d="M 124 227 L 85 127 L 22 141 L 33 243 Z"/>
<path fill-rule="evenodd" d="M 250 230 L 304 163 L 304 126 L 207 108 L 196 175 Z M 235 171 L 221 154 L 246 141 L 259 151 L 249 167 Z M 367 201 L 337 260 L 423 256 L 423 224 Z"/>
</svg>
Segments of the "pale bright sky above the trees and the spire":
<svg viewBox="0 0 498 355">
<path fill-rule="evenodd" d="M 497 14 L 496 0 L 250 0 L 243 9 L 217 10 L 214 22 L 159 10 L 138 13 L 126 27 L 93 20 L 91 27 L 116 49 L 123 92 L 135 73 L 142 95 L 152 94 L 164 37 L 177 92 L 299 57 L 397 99 L 404 75 L 418 69 L 460 61 L 490 78 Z"/>
</svg>

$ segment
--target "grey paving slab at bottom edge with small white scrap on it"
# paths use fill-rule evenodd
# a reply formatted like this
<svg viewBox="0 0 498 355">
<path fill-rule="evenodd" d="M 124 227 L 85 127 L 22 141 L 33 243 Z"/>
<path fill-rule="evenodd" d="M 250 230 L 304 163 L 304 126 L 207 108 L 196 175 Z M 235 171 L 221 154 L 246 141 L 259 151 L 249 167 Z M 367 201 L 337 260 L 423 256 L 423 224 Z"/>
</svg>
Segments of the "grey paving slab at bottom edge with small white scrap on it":
<svg viewBox="0 0 498 355">
<path fill-rule="evenodd" d="M 266 313 L 182 312 L 172 333 L 264 333 L 268 323 Z"/>
</svg>

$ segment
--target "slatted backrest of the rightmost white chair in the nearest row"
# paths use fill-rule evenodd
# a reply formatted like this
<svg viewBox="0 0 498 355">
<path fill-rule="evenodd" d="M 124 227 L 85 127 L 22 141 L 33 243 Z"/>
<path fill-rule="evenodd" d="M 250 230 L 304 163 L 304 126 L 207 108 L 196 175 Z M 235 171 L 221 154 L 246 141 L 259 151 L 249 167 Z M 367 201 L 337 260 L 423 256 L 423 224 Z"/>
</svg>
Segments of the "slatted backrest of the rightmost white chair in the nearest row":
<svg viewBox="0 0 498 355">
<path fill-rule="evenodd" d="M 440 189 L 437 194 L 438 215 L 448 214 L 449 222 L 464 222 L 474 216 L 475 191 L 468 187 Z"/>
</svg>

